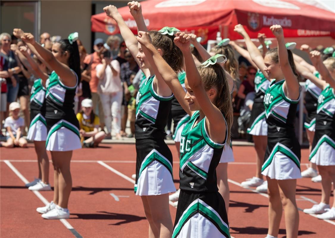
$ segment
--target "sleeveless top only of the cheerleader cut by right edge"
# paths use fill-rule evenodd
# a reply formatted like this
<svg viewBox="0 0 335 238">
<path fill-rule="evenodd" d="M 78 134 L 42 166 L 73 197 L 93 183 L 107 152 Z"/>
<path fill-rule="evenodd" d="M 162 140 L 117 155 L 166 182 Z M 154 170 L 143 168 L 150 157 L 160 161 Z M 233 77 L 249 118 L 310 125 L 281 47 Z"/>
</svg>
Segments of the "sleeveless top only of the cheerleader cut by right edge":
<svg viewBox="0 0 335 238">
<path fill-rule="evenodd" d="M 315 129 L 318 130 L 335 130 L 335 94 L 334 88 L 327 87 L 321 92 L 318 99 L 317 116 Z"/>
</svg>

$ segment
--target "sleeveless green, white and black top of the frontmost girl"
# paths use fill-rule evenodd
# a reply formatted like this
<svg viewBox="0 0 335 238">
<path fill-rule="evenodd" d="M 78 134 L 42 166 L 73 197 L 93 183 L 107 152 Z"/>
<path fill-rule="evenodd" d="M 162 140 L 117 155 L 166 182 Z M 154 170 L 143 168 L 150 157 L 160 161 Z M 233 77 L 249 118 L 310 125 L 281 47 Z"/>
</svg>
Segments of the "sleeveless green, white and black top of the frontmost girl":
<svg viewBox="0 0 335 238">
<path fill-rule="evenodd" d="M 227 131 L 222 144 L 215 143 L 206 130 L 205 118 L 196 111 L 185 125 L 180 140 L 180 189 L 190 192 L 218 191 L 216 167 L 220 162 Z"/>
</svg>

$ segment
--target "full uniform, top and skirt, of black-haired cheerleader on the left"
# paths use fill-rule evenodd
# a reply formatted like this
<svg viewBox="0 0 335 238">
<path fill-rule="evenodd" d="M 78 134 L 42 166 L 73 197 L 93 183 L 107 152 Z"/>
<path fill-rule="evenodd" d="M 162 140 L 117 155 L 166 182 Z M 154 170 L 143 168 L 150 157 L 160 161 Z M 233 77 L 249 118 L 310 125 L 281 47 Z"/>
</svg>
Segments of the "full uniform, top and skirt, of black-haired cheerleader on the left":
<svg viewBox="0 0 335 238">
<path fill-rule="evenodd" d="M 81 148 L 79 122 L 73 111 L 78 85 L 77 74 L 76 78 L 77 82 L 73 87 L 65 86 L 55 71 L 47 80 L 45 118 L 48 128 L 48 151 L 72 151 Z"/>
</svg>

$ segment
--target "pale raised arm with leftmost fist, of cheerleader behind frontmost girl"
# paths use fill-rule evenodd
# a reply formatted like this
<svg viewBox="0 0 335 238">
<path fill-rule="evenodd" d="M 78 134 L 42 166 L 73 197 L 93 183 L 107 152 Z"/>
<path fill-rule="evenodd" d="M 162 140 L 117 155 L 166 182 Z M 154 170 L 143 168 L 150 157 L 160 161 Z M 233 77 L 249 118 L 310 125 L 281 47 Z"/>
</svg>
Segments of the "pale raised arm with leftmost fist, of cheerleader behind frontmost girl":
<svg viewBox="0 0 335 238">
<path fill-rule="evenodd" d="M 119 26 L 120 33 L 122 38 L 124 39 L 126 46 L 129 50 L 129 52 L 132 54 L 134 59 L 136 60 L 138 66 L 141 68 L 141 62 L 136 57 L 138 53 L 138 41 L 136 40 L 136 37 L 132 33 L 132 31 L 129 29 L 129 27 L 126 25 L 125 21 L 123 20 L 121 14 L 119 13 L 118 9 L 114 5 L 109 5 L 104 7 L 104 11 L 106 12 L 106 15 L 113 18 L 116 23 Z M 133 9 L 135 11 L 135 9 Z M 142 15 L 142 13 L 141 13 Z M 142 69 L 142 68 L 141 68 Z M 142 69 L 143 73 L 146 77 L 150 75 L 150 72 L 147 69 Z"/>
</svg>

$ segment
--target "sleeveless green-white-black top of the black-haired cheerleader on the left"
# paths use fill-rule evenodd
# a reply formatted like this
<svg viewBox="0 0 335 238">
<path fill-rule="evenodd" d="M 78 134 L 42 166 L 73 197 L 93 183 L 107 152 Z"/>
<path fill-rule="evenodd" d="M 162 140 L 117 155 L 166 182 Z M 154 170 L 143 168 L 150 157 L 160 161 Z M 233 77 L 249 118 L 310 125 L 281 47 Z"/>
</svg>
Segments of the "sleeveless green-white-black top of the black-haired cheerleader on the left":
<svg viewBox="0 0 335 238">
<path fill-rule="evenodd" d="M 46 83 L 46 118 L 66 119 L 74 115 L 73 103 L 74 96 L 76 95 L 76 87 L 78 85 L 78 76 L 76 73 L 74 74 L 76 75 L 77 81 L 73 87 L 65 86 L 55 71 L 52 71 L 50 74 Z"/>
</svg>

